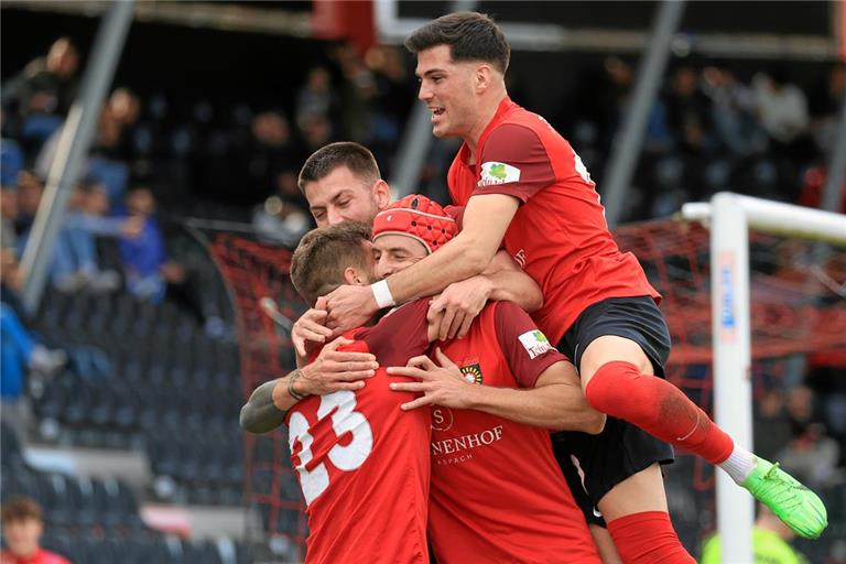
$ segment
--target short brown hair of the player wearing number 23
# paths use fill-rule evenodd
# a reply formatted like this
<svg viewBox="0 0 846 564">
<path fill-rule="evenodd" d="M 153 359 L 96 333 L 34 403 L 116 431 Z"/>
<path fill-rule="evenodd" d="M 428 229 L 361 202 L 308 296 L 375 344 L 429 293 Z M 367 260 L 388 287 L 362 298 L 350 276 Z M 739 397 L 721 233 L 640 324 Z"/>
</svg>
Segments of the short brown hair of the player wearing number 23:
<svg viewBox="0 0 846 564">
<path fill-rule="evenodd" d="M 343 221 L 305 234 L 291 258 L 291 282 L 314 305 L 317 297 L 344 284 L 344 269 L 368 267 L 361 243 L 370 240 L 370 226 Z"/>
</svg>

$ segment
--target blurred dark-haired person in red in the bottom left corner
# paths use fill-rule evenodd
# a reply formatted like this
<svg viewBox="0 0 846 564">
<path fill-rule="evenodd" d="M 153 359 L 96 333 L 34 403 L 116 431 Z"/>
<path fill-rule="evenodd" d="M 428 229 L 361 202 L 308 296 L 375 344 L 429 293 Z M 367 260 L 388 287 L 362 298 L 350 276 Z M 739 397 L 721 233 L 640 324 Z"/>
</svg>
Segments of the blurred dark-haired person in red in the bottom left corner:
<svg viewBox="0 0 846 564">
<path fill-rule="evenodd" d="M 9 546 L 1 564 L 70 564 L 64 556 L 41 547 L 44 519 L 41 507 L 24 496 L 13 496 L 2 509 L 3 538 Z"/>
</svg>

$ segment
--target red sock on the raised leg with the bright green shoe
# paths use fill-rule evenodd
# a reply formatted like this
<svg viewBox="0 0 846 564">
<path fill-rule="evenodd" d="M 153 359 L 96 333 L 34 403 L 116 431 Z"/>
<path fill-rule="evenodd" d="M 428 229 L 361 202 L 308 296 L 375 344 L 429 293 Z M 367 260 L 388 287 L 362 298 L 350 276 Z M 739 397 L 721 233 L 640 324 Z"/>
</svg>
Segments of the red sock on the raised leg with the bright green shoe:
<svg viewBox="0 0 846 564">
<path fill-rule="evenodd" d="M 735 443 L 704 411 L 662 378 L 641 375 L 630 362 L 599 367 L 585 390 L 598 411 L 639 426 L 652 436 L 719 464 Z"/>
</svg>

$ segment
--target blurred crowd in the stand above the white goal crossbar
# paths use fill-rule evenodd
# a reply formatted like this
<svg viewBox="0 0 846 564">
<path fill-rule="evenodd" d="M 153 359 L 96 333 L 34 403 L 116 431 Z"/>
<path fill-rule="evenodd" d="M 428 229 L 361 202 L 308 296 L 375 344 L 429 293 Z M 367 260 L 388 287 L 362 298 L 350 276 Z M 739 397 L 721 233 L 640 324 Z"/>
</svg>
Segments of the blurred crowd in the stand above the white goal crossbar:
<svg viewBox="0 0 846 564">
<path fill-rule="evenodd" d="M 665 217 L 723 189 L 817 206 L 846 96 L 846 65 L 832 64 L 801 85 L 790 68 L 762 64 L 742 79 L 730 65 L 672 67 L 649 115 L 626 219 Z M 557 121 L 601 189 L 634 67 L 608 57 L 585 78 Z"/>
</svg>

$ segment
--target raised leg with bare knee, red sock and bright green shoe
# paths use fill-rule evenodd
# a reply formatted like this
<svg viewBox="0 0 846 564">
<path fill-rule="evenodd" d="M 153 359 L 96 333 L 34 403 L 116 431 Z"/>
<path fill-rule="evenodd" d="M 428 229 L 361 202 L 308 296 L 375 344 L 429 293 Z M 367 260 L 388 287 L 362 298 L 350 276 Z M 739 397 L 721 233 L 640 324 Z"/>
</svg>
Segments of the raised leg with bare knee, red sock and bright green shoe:
<svg viewBox="0 0 846 564">
<path fill-rule="evenodd" d="M 643 315 L 641 322 L 654 315 L 649 311 L 638 313 Z M 649 329 L 661 333 L 665 326 L 660 327 L 658 319 L 653 319 Z M 616 333 L 637 335 L 625 329 Z M 684 392 L 652 376 L 652 361 L 644 352 L 644 347 L 650 348 L 649 339 L 634 338 L 638 340 L 606 334 L 586 339 L 579 372 L 588 403 L 718 465 L 796 533 L 811 539 L 820 536 L 827 524 L 820 498 L 778 465 L 735 445 Z"/>
</svg>

